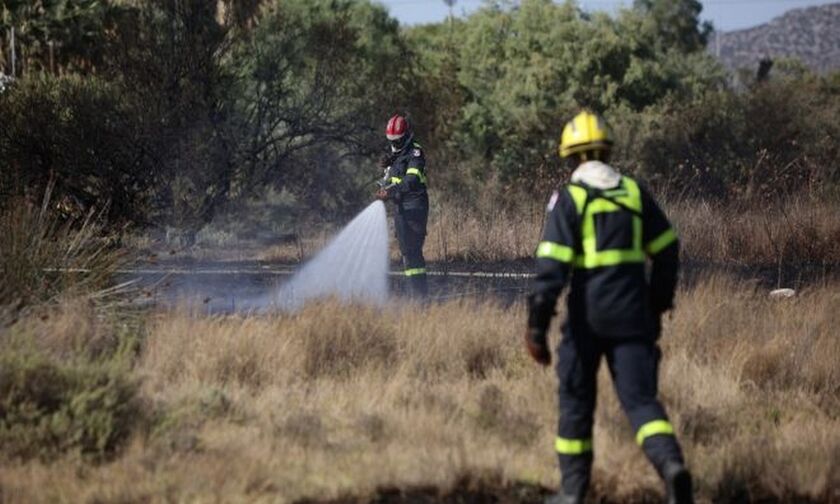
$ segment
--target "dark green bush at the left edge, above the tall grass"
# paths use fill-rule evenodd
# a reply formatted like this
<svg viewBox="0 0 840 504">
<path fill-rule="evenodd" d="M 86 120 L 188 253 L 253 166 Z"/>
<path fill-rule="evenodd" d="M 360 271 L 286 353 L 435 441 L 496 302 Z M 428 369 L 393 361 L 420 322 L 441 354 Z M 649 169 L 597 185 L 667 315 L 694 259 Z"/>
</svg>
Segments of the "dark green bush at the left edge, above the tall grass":
<svg viewBox="0 0 840 504">
<path fill-rule="evenodd" d="M 51 187 L 76 218 L 91 208 L 107 208 L 113 221 L 142 216 L 154 171 L 142 164 L 136 117 L 118 86 L 74 75 L 19 79 L 0 94 L 0 117 L 0 206 Z"/>
</svg>

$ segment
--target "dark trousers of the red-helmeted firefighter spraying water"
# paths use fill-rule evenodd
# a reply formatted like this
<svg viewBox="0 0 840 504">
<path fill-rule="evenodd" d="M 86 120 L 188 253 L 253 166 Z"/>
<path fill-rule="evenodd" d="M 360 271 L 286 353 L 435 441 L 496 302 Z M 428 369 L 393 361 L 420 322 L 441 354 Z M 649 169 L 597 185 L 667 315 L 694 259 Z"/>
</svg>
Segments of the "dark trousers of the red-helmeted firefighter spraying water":
<svg viewBox="0 0 840 504">
<path fill-rule="evenodd" d="M 403 271 L 408 279 L 411 294 L 418 297 L 425 297 L 429 290 L 426 260 L 423 258 L 428 219 L 428 208 L 402 209 L 394 214 L 394 230 L 403 257 Z"/>
</svg>

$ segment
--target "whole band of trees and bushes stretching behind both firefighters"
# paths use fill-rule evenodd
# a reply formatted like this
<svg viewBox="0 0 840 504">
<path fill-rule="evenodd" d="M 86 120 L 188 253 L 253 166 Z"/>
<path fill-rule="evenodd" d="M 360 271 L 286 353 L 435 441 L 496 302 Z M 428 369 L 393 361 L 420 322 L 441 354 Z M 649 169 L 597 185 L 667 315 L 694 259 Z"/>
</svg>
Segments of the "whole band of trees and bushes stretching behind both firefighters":
<svg viewBox="0 0 840 504">
<path fill-rule="evenodd" d="M 432 183 L 462 193 L 472 181 L 500 183 L 504 196 L 559 180 L 557 137 L 581 107 L 619 132 L 617 164 L 653 178 L 722 183 L 758 162 L 756 149 L 782 145 L 829 159 L 756 123 L 814 142 L 834 134 L 784 104 L 758 113 L 784 92 L 730 86 L 705 50 L 701 9 L 637 0 L 608 15 L 498 0 L 400 27 L 369 0 L 9 0 L 0 32 L 15 28 L 18 79 L 0 88 L 0 204 L 55 183 L 63 208 L 107 205 L 114 221 L 143 225 L 199 228 L 267 188 L 322 213 L 355 211 L 395 112 L 423 138 Z M 11 48 L 0 49 L 11 74 Z M 776 74 L 795 77 L 765 88 L 800 83 L 818 97 L 802 107 L 824 102 L 812 116 L 830 122 L 831 78 L 785 62 Z M 671 156 L 687 168 L 669 171 Z"/>
</svg>

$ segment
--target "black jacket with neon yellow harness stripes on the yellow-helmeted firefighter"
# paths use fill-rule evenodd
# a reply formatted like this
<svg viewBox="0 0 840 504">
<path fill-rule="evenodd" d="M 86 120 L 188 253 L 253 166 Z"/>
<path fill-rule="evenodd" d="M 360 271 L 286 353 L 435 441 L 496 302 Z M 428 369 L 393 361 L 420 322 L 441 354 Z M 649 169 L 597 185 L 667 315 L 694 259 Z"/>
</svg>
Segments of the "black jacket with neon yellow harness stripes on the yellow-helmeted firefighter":
<svg viewBox="0 0 840 504">
<path fill-rule="evenodd" d="M 677 236 L 644 187 L 627 176 L 607 190 L 573 182 L 549 202 L 531 296 L 542 307 L 531 309 L 553 312 L 571 279 L 573 331 L 658 337 L 660 316 L 673 303 L 678 266 Z"/>
</svg>

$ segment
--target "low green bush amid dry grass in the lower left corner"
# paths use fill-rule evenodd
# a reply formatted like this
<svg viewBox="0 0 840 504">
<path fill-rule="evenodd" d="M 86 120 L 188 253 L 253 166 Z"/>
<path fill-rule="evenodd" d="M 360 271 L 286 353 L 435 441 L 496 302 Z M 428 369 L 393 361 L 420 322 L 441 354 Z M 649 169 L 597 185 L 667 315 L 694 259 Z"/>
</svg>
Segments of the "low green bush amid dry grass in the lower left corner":
<svg viewBox="0 0 840 504">
<path fill-rule="evenodd" d="M 75 451 L 102 460 L 138 424 L 137 384 L 118 360 L 57 362 L 27 348 L 0 354 L 0 445 L 9 458 Z"/>
</svg>

